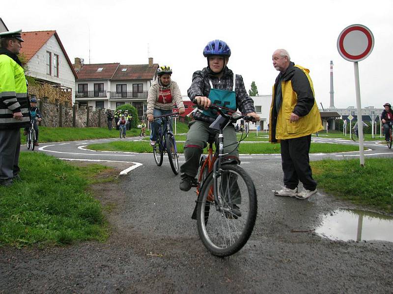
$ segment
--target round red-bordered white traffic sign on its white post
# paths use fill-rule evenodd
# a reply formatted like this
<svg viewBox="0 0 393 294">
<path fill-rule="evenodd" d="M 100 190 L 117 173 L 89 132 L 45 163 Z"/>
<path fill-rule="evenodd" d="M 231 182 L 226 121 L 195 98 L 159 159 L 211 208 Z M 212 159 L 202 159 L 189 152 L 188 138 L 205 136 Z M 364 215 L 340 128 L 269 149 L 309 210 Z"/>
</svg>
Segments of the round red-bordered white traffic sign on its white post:
<svg viewBox="0 0 393 294">
<path fill-rule="evenodd" d="M 356 106 L 358 109 L 360 165 L 365 165 L 362 105 L 360 99 L 358 62 L 370 55 L 374 48 L 374 36 L 364 25 L 349 25 L 342 30 L 337 39 L 337 50 L 345 60 L 352 61 L 355 71 Z M 360 118 L 360 119 L 359 119 Z"/>
</svg>

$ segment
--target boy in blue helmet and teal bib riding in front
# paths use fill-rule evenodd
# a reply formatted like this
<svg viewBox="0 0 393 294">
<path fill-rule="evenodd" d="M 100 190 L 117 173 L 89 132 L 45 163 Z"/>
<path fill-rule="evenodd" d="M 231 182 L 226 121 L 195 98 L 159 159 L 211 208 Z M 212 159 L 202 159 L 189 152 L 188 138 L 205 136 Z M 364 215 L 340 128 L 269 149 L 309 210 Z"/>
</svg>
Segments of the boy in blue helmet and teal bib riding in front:
<svg viewBox="0 0 393 294">
<path fill-rule="evenodd" d="M 231 108 L 233 111 L 239 109 L 243 114 L 259 121 L 254 101 L 244 87 L 243 77 L 235 75 L 226 67 L 230 54 L 229 46 L 224 41 L 209 42 L 203 50 L 203 56 L 207 58 L 207 67 L 193 74 L 193 82 L 187 91 L 191 101 L 197 100 L 198 108 L 192 112 L 194 121 L 189 123 L 190 130 L 184 145 L 186 162 L 180 167 L 182 174 L 179 185 L 182 191 L 189 191 L 196 182 L 200 155 L 207 146 L 209 135 L 218 141 L 218 130 L 209 128 L 218 116 L 209 110 L 211 103 Z M 240 163 L 236 142 L 235 128 L 232 124 L 224 129 L 224 153 L 228 153 L 225 157 L 228 162 Z"/>
</svg>

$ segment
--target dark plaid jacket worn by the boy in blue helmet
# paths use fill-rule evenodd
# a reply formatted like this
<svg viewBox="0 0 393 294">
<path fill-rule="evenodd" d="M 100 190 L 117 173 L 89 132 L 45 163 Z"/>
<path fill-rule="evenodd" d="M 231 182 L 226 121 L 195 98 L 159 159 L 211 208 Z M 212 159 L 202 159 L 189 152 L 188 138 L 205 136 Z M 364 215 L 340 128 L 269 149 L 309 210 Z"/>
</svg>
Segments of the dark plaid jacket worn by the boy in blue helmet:
<svg viewBox="0 0 393 294">
<path fill-rule="evenodd" d="M 209 68 L 204 68 L 202 71 L 197 71 L 193 74 L 193 82 L 187 91 L 188 97 L 191 101 L 197 96 L 208 97 L 210 93 L 209 78 L 212 81 L 214 89 L 232 91 L 233 88 L 233 73 L 225 66 L 224 74 L 221 78 L 217 78 Z M 248 114 L 255 112 L 254 101 L 247 94 L 244 87 L 243 77 L 236 74 L 236 107 L 243 113 Z M 213 123 L 214 118 L 205 116 L 197 111 L 193 113 L 194 119 L 198 121 Z"/>
</svg>

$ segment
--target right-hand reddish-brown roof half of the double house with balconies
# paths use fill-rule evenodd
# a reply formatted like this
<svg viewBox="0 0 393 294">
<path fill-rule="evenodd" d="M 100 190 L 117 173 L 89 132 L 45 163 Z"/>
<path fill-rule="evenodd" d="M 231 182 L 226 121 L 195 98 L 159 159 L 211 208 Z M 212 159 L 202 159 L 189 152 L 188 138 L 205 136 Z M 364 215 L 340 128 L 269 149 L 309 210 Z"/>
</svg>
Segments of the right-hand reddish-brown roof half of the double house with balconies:
<svg viewBox="0 0 393 294">
<path fill-rule="evenodd" d="M 113 80 L 130 80 L 130 79 L 154 79 L 154 75 L 157 72 L 158 64 L 153 64 L 149 67 L 148 64 L 138 64 L 138 65 L 124 65 L 121 64 L 116 73 L 114 73 Z M 122 69 L 127 69 L 123 72 Z"/>
</svg>

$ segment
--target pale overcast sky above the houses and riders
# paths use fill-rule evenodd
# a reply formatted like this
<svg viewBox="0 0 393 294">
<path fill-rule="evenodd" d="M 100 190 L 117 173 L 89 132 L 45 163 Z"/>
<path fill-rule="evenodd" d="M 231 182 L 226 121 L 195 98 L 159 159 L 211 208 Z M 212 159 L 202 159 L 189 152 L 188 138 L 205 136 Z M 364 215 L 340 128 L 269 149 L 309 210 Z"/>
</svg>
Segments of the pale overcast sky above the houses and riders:
<svg viewBox="0 0 393 294">
<path fill-rule="evenodd" d="M 278 74 L 272 53 L 284 48 L 310 70 L 318 106 L 325 108 L 330 60 L 335 106 L 356 107 L 354 66 L 338 54 L 337 37 L 346 26 L 361 24 L 375 39 L 372 53 L 359 62 L 362 107 L 393 102 L 392 0 L 20 0 L 7 1 L 0 13 L 9 30 L 56 30 L 72 62 L 146 64 L 153 57 L 173 68 L 182 95 L 193 72 L 206 66 L 202 51 L 210 40 L 227 42 L 228 67 L 243 75 L 247 90 L 255 81 L 259 95 L 272 93 Z"/>
</svg>

